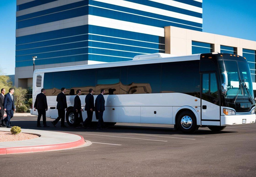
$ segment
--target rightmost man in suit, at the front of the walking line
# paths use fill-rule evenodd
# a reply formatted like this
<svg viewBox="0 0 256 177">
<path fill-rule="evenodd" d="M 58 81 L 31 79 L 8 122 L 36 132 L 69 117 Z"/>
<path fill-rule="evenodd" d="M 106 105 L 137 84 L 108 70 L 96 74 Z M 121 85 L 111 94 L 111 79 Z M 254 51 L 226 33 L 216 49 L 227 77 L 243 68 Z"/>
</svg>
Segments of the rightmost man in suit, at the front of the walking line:
<svg viewBox="0 0 256 177">
<path fill-rule="evenodd" d="M 101 89 L 100 94 L 95 99 L 95 114 L 97 114 L 96 119 L 98 119 L 97 130 L 106 129 L 103 121 L 103 112 L 105 110 L 105 99 L 104 99 L 105 90 Z"/>
</svg>

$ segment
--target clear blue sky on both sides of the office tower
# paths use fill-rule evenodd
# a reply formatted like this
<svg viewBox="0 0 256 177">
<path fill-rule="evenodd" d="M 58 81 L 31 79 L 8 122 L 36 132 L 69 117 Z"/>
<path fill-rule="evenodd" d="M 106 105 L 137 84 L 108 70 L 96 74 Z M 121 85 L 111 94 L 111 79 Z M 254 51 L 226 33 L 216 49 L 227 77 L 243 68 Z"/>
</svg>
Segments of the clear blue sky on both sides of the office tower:
<svg viewBox="0 0 256 177">
<path fill-rule="evenodd" d="M 203 31 L 256 41 L 256 0 L 203 0 Z M 0 68 L 15 73 L 16 0 L 0 0 Z"/>
</svg>

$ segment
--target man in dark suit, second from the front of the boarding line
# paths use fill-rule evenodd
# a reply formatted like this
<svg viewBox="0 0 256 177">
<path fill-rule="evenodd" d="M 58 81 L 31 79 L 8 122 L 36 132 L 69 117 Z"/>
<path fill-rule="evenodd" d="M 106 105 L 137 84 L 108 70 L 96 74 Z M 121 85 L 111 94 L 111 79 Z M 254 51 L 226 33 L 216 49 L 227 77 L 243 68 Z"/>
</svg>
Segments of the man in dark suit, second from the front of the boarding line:
<svg viewBox="0 0 256 177">
<path fill-rule="evenodd" d="M 92 123 L 92 116 L 94 110 L 94 97 L 93 97 L 93 90 L 89 89 L 89 94 L 85 97 L 85 108 L 84 110 L 87 111 L 87 118 L 83 122 L 84 128 L 91 128 Z"/>
</svg>

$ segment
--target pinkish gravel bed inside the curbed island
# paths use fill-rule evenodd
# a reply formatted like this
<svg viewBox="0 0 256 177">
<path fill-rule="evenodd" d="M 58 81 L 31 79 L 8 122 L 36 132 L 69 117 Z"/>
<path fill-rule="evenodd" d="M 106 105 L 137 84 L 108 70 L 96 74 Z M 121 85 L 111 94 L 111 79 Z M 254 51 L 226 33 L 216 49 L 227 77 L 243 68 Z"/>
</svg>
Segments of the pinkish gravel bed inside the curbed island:
<svg viewBox="0 0 256 177">
<path fill-rule="evenodd" d="M 27 139 L 38 138 L 39 136 L 28 134 L 28 133 L 19 133 L 18 135 L 12 135 L 10 131 L 0 131 L 0 142 L 5 141 L 20 141 Z"/>
</svg>

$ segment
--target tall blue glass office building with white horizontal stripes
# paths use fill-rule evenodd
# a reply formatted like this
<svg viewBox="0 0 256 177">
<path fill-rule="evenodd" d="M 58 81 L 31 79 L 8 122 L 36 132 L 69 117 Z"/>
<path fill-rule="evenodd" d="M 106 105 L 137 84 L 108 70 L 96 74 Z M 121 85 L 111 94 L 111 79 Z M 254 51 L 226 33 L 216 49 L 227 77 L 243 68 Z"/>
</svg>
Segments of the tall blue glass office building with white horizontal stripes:
<svg viewBox="0 0 256 177">
<path fill-rule="evenodd" d="M 164 53 L 165 26 L 202 31 L 202 2 L 17 0 L 16 71 Z"/>
</svg>

